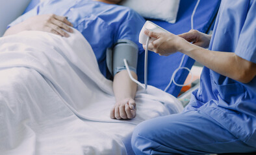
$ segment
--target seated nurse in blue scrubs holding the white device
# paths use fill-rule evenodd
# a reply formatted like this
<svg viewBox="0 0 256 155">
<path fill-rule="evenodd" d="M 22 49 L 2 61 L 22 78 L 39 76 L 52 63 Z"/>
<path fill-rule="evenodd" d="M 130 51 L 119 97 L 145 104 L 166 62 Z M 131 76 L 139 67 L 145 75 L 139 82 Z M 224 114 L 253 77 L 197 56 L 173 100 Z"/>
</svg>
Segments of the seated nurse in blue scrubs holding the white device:
<svg viewBox="0 0 256 155">
<path fill-rule="evenodd" d="M 256 1 L 223 0 L 212 36 L 145 33 L 157 54 L 179 51 L 205 67 L 181 114 L 134 129 L 135 154 L 256 152 Z"/>
</svg>

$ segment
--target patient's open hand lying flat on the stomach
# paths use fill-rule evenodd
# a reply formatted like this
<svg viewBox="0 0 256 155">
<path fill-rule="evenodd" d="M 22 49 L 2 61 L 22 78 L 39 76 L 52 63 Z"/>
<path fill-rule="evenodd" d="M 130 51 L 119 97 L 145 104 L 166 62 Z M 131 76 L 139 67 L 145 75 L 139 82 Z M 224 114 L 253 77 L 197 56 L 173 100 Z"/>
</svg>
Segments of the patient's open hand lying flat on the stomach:
<svg viewBox="0 0 256 155">
<path fill-rule="evenodd" d="M 70 28 L 70 26 L 73 26 L 70 21 L 68 21 L 66 17 L 57 16 L 55 14 L 34 16 L 24 22 L 29 26 L 29 30 L 51 32 L 62 37 L 69 37 L 67 32 L 73 32 Z"/>
</svg>

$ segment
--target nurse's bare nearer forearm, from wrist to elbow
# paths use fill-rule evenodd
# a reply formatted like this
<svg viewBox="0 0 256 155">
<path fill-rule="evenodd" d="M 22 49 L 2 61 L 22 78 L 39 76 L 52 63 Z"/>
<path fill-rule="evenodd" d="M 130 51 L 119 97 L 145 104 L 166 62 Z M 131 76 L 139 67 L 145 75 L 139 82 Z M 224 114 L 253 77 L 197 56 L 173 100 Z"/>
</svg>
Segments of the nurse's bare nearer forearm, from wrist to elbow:
<svg viewBox="0 0 256 155">
<path fill-rule="evenodd" d="M 190 43 L 184 43 L 179 51 L 205 67 L 242 83 L 248 83 L 256 76 L 256 64 L 233 52 L 211 51 Z"/>
</svg>

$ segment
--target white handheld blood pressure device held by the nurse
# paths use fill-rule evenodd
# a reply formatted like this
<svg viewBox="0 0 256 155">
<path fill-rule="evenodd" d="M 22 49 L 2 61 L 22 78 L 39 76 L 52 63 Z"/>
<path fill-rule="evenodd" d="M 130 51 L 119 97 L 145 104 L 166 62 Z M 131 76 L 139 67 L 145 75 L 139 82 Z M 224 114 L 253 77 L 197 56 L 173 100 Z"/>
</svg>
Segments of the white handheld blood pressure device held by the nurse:
<svg viewBox="0 0 256 155">
<path fill-rule="evenodd" d="M 146 21 L 146 23 L 142 27 L 142 30 L 140 31 L 140 36 L 138 37 L 138 42 L 140 42 L 141 44 L 146 44 L 146 41 L 147 41 L 147 36 L 144 33 L 145 30 L 151 30 L 153 32 L 168 32 L 167 30 L 165 30 L 164 28 L 156 25 L 155 23 L 152 23 L 151 21 Z M 151 38 L 149 40 L 149 43 L 151 43 L 153 40 L 154 39 Z"/>
</svg>

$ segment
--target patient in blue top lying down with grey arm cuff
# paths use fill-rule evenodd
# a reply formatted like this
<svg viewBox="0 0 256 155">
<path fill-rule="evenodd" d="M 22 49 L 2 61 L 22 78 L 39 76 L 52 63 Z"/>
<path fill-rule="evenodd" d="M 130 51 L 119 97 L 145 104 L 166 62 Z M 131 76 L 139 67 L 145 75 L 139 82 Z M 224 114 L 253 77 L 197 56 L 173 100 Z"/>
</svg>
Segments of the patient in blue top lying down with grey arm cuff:
<svg viewBox="0 0 256 155">
<path fill-rule="evenodd" d="M 120 39 L 138 45 L 138 36 L 145 19 L 125 6 L 116 5 L 122 0 L 45 0 L 32 10 L 10 23 L 4 36 L 24 30 L 40 30 L 68 37 L 73 28 L 79 30 L 90 43 L 96 55 L 99 70 L 111 78 L 107 69 L 106 50 Z M 131 74 L 136 79 L 136 68 Z M 118 70 L 114 75 L 113 90 L 116 98 L 110 110 L 112 119 L 131 119 L 136 116 L 134 96 L 137 85 L 128 76 L 127 70 Z"/>
</svg>

